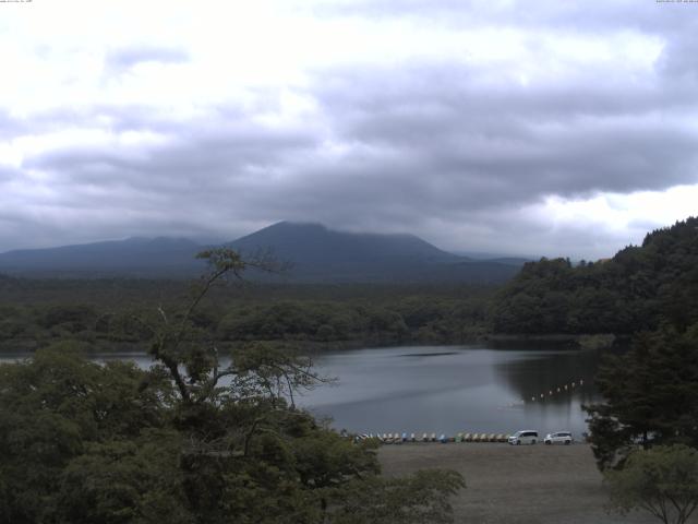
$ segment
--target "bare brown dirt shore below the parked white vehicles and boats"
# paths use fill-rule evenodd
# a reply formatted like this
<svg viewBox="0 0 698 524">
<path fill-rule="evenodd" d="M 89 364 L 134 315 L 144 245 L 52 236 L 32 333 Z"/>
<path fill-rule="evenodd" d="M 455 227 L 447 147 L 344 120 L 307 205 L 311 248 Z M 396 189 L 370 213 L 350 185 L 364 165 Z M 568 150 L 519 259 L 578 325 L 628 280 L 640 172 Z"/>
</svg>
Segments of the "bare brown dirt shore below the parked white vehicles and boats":
<svg viewBox="0 0 698 524">
<path fill-rule="evenodd" d="M 457 523 L 660 522 L 642 513 L 606 512 L 607 496 L 587 444 L 405 443 L 384 445 L 378 457 L 386 475 L 422 468 L 462 474 L 467 488 L 453 499 Z"/>
</svg>

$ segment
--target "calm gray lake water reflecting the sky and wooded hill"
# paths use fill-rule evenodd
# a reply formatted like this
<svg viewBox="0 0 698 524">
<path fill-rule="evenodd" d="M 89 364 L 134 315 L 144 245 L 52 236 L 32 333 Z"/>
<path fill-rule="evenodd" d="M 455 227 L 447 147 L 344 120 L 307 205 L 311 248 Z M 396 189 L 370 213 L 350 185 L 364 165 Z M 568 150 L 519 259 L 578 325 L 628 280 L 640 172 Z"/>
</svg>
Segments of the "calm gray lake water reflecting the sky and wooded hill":
<svg viewBox="0 0 698 524">
<path fill-rule="evenodd" d="M 0 361 L 23 356 L 3 355 Z M 113 358 L 134 360 L 143 368 L 151 365 L 142 354 L 95 359 Z M 587 430 L 581 404 L 598 400 L 593 376 L 599 360 L 597 350 L 484 346 L 332 353 L 316 357 L 315 364 L 323 374 L 338 378 L 338 383 L 303 393 L 299 404 L 332 417 L 337 428 L 358 432 L 537 429 L 541 433 L 570 430 L 579 437 Z"/>
</svg>

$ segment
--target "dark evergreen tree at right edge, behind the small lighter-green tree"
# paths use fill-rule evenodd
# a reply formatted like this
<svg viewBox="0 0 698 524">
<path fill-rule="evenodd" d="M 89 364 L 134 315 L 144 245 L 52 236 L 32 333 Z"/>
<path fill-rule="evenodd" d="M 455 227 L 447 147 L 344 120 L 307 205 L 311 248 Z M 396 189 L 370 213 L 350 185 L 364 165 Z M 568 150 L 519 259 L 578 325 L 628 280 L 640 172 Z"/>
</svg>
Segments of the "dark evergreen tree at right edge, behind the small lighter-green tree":
<svg viewBox="0 0 698 524">
<path fill-rule="evenodd" d="M 604 403 L 587 410 L 602 469 L 622 466 L 638 443 L 698 446 L 698 323 L 638 336 L 628 353 L 606 358 L 597 384 Z"/>
</svg>

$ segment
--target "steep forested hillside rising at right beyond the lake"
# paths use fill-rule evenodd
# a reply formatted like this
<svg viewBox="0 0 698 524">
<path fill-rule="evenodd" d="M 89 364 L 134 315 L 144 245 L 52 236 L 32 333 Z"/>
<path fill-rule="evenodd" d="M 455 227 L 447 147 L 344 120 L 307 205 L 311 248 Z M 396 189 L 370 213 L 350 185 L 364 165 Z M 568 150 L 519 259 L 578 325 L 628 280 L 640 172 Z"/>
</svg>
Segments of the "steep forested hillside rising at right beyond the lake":
<svg viewBox="0 0 698 524">
<path fill-rule="evenodd" d="M 527 263 L 496 296 L 500 333 L 616 333 L 698 320 L 698 218 L 648 234 L 611 260 Z"/>
</svg>

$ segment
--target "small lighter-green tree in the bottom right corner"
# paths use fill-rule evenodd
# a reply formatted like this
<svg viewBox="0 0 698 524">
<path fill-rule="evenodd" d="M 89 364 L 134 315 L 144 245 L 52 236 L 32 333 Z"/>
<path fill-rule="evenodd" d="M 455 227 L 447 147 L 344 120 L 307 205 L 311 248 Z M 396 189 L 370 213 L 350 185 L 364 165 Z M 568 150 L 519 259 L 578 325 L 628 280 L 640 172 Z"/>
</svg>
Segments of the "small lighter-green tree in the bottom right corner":
<svg viewBox="0 0 698 524">
<path fill-rule="evenodd" d="M 698 451 L 681 444 L 636 450 L 605 481 L 622 514 L 643 510 L 664 524 L 684 524 L 698 508 Z"/>
</svg>

